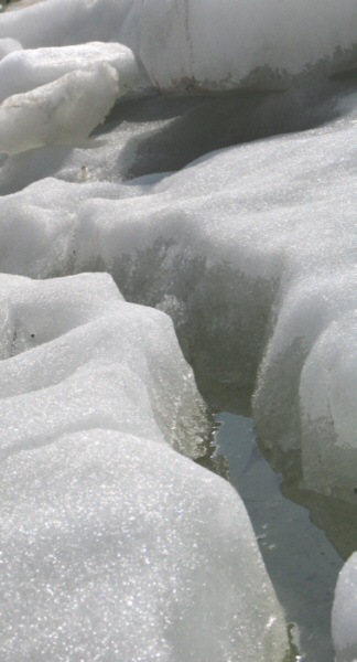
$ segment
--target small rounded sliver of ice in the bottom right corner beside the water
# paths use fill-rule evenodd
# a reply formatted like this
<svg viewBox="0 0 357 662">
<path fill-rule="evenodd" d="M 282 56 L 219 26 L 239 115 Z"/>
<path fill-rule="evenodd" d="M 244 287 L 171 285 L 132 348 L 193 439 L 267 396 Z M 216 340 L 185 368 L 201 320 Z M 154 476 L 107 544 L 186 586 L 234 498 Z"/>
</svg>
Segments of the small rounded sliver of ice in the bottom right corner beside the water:
<svg viewBox="0 0 357 662">
<path fill-rule="evenodd" d="M 332 630 L 336 662 L 355 662 L 357 659 L 356 633 L 357 553 L 353 554 L 339 573 L 332 616 Z"/>
</svg>

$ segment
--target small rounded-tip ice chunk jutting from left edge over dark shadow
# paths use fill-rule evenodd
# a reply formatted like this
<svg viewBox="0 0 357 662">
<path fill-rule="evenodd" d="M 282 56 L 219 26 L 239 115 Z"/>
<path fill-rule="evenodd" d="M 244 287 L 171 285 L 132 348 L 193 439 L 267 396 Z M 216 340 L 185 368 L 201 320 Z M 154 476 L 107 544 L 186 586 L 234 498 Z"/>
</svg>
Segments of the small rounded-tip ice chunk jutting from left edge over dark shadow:
<svg viewBox="0 0 357 662">
<path fill-rule="evenodd" d="M 14 95 L 0 106 L 0 152 L 80 141 L 104 121 L 117 95 L 117 72 L 104 63 Z"/>
</svg>

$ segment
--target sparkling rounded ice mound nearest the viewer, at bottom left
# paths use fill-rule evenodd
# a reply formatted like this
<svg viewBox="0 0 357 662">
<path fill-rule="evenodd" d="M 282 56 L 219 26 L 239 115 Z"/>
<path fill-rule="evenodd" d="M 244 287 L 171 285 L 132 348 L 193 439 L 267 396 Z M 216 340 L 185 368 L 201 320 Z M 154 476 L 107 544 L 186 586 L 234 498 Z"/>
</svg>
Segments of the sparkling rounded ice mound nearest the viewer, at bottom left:
<svg viewBox="0 0 357 662">
<path fill-rule="evenodd" d="M 282 660 L 281 613 L 223 479 L 91 429 L 9 458 L 1 491 L 6 662 Z"/>
</svg>

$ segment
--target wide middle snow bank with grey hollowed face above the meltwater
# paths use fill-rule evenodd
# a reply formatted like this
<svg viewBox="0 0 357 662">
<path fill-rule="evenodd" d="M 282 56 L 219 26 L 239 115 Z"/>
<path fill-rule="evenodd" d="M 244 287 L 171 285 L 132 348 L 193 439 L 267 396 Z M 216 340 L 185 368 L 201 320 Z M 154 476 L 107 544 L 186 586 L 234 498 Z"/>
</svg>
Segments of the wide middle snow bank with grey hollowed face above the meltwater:
<svg viewBox="0 0 357 662">
<path fill-rule="evenodd" d="M 47 179 L 0 205 L 3 271 L 109 270 L 127 298 L 172 317 L 215 407 L 221 384 L 240 410 L 253 394 L 272 457 L 294 452 L 310 489 L 353 502 L 355 102 L 340 97 L 324 127 L 207 154 L 154 185 Z M 333 344 L 348 397 L 320 387 Z"/>
</svg>

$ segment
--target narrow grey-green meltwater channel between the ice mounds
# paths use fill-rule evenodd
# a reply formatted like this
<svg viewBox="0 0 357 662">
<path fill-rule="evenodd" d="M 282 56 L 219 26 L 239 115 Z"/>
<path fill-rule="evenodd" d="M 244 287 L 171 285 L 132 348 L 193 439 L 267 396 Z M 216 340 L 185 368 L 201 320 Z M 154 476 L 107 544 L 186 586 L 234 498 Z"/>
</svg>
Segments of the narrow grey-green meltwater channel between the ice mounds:
<svg viewBox="0 0 357 662">
<path fill-rule="evenodd" d="M 331 610 L 343 559 L 309 511 L 281 493 L 282 479 L 260 453 L 251 418 L 220 413 L 216 455 L 229 462 L 277 596 L 296 662 L 333 662 Z"/>
</svg>

